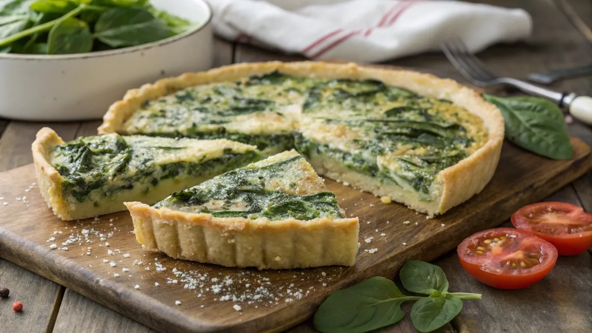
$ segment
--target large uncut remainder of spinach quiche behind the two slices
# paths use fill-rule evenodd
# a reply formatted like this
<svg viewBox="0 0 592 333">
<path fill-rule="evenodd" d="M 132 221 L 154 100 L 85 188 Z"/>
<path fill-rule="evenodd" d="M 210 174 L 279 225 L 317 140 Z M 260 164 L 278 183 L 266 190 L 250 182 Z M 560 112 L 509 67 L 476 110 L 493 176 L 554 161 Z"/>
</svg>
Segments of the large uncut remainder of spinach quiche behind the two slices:
<svg viewBox="0 0 592 333">
<path fill-rule="evenodd" d="M 504 137 L 495 105 L 450 79 L 352 63 L 242 63 L 127 92 L 99 133 L 294 148 L 318 174 L 429 216 L 479 193 Z M 388 202 L 388 200 L 385 200 Z"/>
</svg>

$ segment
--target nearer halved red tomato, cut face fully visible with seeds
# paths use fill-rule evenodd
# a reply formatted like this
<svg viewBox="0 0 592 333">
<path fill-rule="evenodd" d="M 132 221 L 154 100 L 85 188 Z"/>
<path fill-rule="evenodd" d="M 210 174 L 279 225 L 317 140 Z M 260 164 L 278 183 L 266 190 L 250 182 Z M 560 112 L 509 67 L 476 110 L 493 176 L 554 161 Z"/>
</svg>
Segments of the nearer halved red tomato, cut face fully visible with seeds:
<svg viewBox="0 0 592 333">
<path fill-rule="evenodd" d="M 456 251 L 466 273 L 501 289 L 520 289 L 535 284 L 557 261 L 555 246 L 513 228 L 474 233 L 462 241 Z"/>
</svg>

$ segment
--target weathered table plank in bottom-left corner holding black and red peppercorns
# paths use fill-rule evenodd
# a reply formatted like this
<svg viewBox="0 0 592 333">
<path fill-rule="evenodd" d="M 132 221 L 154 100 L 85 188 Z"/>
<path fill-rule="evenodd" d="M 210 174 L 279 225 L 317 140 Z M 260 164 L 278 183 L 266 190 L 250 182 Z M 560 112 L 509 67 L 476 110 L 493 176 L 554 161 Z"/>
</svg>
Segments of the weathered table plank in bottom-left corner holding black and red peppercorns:
<svg viewBox="0 0 592 333">
<path fill-rule="evenodd" d="M 44 333 L 52 327 L 63 287 L 0 259 L 0 288 L 10 290 L 8 298 L 0 299 L 0 331 Z M 17 300 L 23 305 L 22 312 L 12 310 Z"/>
</svg>

